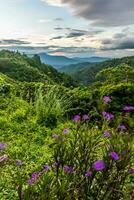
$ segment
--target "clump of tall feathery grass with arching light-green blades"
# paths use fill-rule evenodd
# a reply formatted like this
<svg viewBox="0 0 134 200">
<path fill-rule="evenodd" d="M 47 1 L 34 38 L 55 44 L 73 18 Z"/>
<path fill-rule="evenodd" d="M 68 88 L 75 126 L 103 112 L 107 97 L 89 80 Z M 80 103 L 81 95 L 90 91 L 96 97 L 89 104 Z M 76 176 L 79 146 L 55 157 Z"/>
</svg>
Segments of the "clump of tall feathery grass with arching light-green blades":
<svg viewBox="0 0 134 200">
<path fill-rule="evenodd" d="M 35 102 L 37 121 L 54 126 L 69 111 L 71 104 L 71 98 L 61 94 L 56 86 L 52 86 L 45 94 L 40 86 Z"/>
</svg>

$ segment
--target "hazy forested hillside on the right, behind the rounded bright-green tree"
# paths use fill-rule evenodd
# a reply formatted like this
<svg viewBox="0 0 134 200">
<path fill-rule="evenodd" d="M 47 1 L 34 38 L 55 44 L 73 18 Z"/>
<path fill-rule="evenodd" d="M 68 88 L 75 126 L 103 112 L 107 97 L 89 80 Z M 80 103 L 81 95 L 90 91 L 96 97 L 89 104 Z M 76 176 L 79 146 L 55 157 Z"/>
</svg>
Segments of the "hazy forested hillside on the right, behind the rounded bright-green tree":
<svg viewBox="0 0 134 200">
<path fill-rule="evenodd" d="M 95 77 L 98 72 L 106 68 L 119 66 L 120 64 L 127 64 L 134 67 L 134 56 L 112 59 L 101 63 L 69 65 L 62 68 L 61 71 L 66 72 L 79 83 L 89 85 L 96 81 Z"/>
</svg>

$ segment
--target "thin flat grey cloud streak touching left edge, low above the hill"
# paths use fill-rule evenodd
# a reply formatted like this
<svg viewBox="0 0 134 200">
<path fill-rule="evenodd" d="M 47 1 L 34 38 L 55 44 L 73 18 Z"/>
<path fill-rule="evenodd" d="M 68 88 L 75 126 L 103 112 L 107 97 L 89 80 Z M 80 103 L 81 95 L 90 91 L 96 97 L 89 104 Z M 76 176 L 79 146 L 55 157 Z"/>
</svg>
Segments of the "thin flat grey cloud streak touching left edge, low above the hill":
<svg viewBox="0 0 134 200">
<path fill-rule="evenodd" d="M 23 40 L 14 40 L 14 39 L 0 40 L 0 45 L 24 45 L 24 44 L 30 44 L 30 42 Z"/>
</svg>

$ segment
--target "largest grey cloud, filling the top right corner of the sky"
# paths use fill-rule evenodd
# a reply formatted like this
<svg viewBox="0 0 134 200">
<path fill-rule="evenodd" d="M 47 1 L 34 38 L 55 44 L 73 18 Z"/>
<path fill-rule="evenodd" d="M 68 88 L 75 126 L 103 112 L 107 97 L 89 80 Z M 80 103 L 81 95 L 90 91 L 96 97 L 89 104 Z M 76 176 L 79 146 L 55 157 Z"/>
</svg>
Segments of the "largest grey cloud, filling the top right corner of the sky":
<svg viewBox="0 0 134 200">
<path fill-rule="evenodd" d="M 76 16 L 96 26 L 134 24 L 133 0 L 44 0 L 51 5 L 69 5 Z"/>
</svg>

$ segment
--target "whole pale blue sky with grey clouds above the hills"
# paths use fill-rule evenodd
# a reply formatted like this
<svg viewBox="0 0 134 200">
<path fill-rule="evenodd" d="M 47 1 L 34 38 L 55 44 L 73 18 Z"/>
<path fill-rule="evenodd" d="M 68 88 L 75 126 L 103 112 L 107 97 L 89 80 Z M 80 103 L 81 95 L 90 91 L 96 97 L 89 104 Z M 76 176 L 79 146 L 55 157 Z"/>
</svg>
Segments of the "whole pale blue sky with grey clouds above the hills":
<svg viewBox="0 0 134 200">
<path fill-rule="evenodd" d="M 0 0 L 0 49 L 134 55 L 133 0 Z"/>
</svg>

